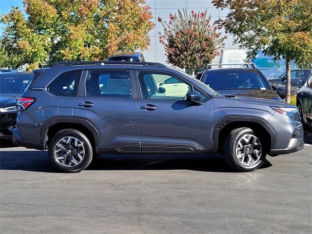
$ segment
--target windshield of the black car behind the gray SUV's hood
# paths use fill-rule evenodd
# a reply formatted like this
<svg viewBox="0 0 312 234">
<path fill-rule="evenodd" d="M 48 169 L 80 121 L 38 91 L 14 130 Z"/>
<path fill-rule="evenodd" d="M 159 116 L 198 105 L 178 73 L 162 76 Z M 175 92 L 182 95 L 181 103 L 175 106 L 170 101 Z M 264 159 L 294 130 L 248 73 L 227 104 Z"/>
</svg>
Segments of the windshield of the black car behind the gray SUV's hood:
<svg viewBox="0 0 312 234">
<path fill-rule="evenodd" d="M 205 83 L 214 90 L 225 89 L 270 89 L 256 70 L 209 70 Z"/>
</svg>

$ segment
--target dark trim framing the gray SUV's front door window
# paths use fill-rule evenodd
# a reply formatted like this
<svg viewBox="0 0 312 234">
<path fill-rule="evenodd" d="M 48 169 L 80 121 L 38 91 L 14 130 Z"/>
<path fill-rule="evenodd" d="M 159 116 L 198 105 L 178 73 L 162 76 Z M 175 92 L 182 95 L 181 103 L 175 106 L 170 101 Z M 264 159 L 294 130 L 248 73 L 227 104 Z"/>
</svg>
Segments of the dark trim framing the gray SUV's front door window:
<svg viewBox="0 0 312 234">
<path fill-rule="evenodd" d="M 165 75 L 165 76 L 171 76 L 171 77 L 176 77 L 178 79 L 181 79 L 184 83 L 192 86 L 192 90 L 194 92 L 194 88 L 196 88 L 197 90 L 199 90 L 203 95 L 206 96 L 205 99 L 201 100 L 201 101 L 205 101 L 207 99 L 210 99 L 211 97 L 206 93 L 204 92 L 202 89 L 198 88 L 196 85 L 192 84 L 191 82 L 189 82 L 187 79 L 173 73 L 173 72 L 169 72 L 169 71 L 159 71 L 159 70 L 152 70 L 152 69 L 135 69 L 134 71 L 134 76 L 136 78 L 136 82 L 137 82 L 137 85 L 138 85 L 138 89 L 137 89 L 137 96 L 139 99 L 144 99 L 144 100 L 164 100 L 164 101 L 179 101 L 179 100 L 176 100 L 176 99 L 150 99 L 150 98 L 143 98 L 143 93 L 142 93 L 142 88 L 141 88 L 141 85 L 140 85 L 140 82 L 138 80 L 138 76 L 137 76 L 137 73 L 138 72 L 146 72 L 146 73 L 150 73 L 150 74 L 156 74 L 156 75 Z M 180 100 L 181 101 L 181 100 Z"/>
</svg>

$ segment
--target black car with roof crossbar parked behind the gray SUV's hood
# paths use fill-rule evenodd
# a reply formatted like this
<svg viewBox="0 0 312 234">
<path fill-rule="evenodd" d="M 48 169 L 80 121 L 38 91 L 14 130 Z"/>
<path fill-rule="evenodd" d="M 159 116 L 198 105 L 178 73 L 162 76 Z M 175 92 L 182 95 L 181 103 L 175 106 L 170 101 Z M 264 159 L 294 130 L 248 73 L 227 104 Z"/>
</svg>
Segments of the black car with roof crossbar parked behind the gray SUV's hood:
<svg viewBox="0 0 312 234">
<path fill-rule="evenodd" d="M 209 64 L 227 65 L 227 64 Z M 246 63 L 246 65 L 248 65 Z M 197 79 L 200 75 L 197 75 Z M 255 68 L 216 68 L 206 69 L 200 81 L 222 95 L 246 96 L 282 101 L 265 76 Z"/>
</svg>

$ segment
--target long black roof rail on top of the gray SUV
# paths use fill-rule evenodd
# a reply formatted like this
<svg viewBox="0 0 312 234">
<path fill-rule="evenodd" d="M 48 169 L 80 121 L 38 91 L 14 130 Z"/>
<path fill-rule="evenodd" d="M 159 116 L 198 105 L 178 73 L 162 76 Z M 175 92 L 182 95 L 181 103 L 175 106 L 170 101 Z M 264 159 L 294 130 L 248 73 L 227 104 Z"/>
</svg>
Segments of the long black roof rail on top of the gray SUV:
<svg viewBox="0 0 312 234">
<path fill-rule="evenodd" d="M 63 66 L 79 66 L 79 65 L 139 65 L 139 66 L 162 66 L 166 65 L 158 62 L 139 62 L 139 61 L 65 61 L 54 62 L 51 67 L 63 67 Z"/>
</svg>

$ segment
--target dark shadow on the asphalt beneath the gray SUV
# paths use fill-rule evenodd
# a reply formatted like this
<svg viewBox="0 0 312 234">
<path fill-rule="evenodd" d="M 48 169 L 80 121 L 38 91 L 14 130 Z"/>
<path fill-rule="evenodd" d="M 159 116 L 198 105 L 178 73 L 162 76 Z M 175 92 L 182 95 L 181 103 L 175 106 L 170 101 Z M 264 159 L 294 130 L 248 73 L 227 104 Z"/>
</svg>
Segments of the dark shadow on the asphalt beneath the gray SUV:
<svg viewBox="0 0 312 234">
<path fill-rule="evenodd" d="M 262 168 L 272 166 L 266 161 Z M 46 151 L 2 151 L 1 170 L 58 172 L 50 164 Z M 194 170 L 234 172 L 219 155 L 102 155 L 85 170 Z"/>
</svg>

